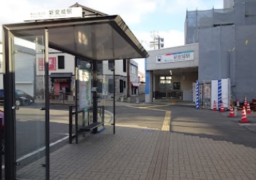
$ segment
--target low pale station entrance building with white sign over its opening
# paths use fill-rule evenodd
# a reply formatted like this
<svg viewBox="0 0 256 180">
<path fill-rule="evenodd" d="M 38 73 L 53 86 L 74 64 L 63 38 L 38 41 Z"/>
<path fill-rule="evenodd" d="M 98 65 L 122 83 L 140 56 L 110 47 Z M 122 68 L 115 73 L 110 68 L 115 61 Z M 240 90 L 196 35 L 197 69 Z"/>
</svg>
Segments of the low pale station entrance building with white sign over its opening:
<svg viewBox="0 0 256 180">
<path fill-rule="evenodd" d="M 192 100 L 192 82 L 198 79 L 198 43 L 148 51 L 146 101 L 156 98 Z"/>
</svg>

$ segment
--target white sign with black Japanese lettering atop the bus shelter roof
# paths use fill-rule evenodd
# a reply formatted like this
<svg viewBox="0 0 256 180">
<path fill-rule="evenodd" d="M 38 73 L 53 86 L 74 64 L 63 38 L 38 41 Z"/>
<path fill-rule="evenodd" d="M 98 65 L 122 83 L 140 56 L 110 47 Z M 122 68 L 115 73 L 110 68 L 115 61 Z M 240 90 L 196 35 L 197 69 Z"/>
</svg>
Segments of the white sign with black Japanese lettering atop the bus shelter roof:
<svg viewBox="0 0 256 180">
<path fill-rule="evenodd" d="M 83 17 L 81 7 L 72 7 L 64 9 L 37 10 L 29 13 L 26 20 L 50 20 L 60 18 Z"/>
</svg>

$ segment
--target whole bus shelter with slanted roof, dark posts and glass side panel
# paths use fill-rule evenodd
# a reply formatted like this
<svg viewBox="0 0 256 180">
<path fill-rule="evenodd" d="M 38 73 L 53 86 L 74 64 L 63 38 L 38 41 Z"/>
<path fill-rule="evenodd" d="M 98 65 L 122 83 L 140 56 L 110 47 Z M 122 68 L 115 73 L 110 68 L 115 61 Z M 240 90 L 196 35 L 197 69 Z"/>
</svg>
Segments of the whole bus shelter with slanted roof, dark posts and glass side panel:
<svg viewBox="0 0 256 180">
<path fill-rule="evenodd" d="M 75 55 L 75 59 L 86 60 L 94 66 L 97 66 L 97 61 L 102 60 L 147 58 L 148 52 L 118 15 L 7 24 L 2 26 L 2 34 L 5 179 L 37 179 L 37 177 L 28 178 L 19 173 L 20 163 L 24 163 L 24 157 L 19 154 L 19 152 L 22 152 L 20 146 L 25 141 L 35 144 L 36 149 L 40 149 L 37 157 L 35 157 L 42 159 L 40 164 L 36 164 L 39 167 L 38 173 L 41 177 L 44 174 L 44 179 L 50 179 L 49 48 Z M 29 55 L 21 54 L 17 48 L 20 44 L 31 46 L 34 51 L 30 52 Z M 33 108 L 28 110 L 26 107 L 18 106 L 15 101 L 15 90 L 19 87 L 20 79 L 23 79 L 23 82 L 26 83 L 24 78 L 26 78 L 29 71 L 34 71 L 34 65 L 31 65 L 31 63 L 34 62 L 33 59 L 38 57 L 43 59 L 42 64 L 40 64 L 43 69 L 43 73 L 40 74 L 43 80 L 37 82 L 37 85 L 40 85 L 43 91 L 40 101 L 33 103 L 31 105 Z M 93 92 L 94 114 L 97 116 L 97 94 L 94 88 L 97 86 L 95 82 L 97 69 L 93 71 L 91 89 Z M 34 76 L 37 76 L 37 74 L 34 74 Z M 29 82 L 27 83 L 29 84 Z M 75 96 L 78 97 L 77 94 Z M 27 111 L 29 113 L 26 113 Z M 31 123 L 25 127 L 22 122 L 27 121 Z M 18 130 L 18 128 L 21 130 Z M 32 140 L 26 139 L 28 131 L 34 132 Z M 34 152 L 34 150 L 31 149 L 31 152 Z"/>
</svg>

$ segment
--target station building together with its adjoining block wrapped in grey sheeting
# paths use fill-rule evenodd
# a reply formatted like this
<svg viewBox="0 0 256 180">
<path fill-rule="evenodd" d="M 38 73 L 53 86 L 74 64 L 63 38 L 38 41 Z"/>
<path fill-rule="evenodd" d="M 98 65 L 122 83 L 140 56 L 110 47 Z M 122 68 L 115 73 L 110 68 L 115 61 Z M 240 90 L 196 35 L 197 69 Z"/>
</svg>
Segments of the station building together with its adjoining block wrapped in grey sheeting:
<svg viewBox="0 0 256 180">
<path fill-rule="evenodd" d="M 224 0 L 223 5 L 187 12 L 184 46 L 149 51 L 147 102 L 180 98 L 212 109 L 214 101 L 225 100 L 228 108 L 232 100 L 256 98 L 256 2 Z"/>
</svg>

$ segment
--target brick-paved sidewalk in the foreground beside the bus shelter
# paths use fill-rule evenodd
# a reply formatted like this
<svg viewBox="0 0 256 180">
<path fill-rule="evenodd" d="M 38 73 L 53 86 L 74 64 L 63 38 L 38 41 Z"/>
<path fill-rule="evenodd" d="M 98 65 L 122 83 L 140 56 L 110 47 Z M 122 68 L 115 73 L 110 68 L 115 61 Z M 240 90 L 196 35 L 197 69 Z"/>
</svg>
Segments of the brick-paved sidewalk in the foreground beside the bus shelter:
<svg viewBox="0 0 256 180">
<path fill-rule="evenodd" d="M 227 113 L 221 119 L 230 120 Z M 248 117 L 255 120 L 256 115 Z M 111 128 L 51 153 L 50 179 L 256 179 L 256 149 L 250 146 L 118 125 L 113 134 Z M 20 173 L 42 179 L 38 174 L 44 171 L 38 171 L 37 164 Z"/>
</svg>

